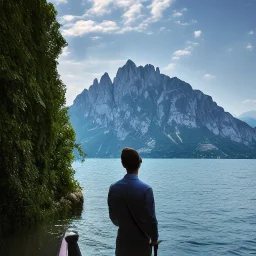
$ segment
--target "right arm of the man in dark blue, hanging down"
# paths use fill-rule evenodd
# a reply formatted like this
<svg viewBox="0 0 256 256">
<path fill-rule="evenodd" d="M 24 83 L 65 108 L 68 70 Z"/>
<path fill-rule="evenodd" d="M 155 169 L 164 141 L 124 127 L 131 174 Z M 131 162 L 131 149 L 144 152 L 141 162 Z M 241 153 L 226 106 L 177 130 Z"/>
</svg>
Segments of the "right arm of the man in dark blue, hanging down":
<svg viewBox="0 0 256 256">
<path fill-rule="evenodd" d="M 148 211 L 147 230 L 151 237 L 152 243 L 158 240 L 158 227 L 155 213 L 155 200 L 152 188 L 148 188 L 145 192 L 145 203 Z"/>
</svg>

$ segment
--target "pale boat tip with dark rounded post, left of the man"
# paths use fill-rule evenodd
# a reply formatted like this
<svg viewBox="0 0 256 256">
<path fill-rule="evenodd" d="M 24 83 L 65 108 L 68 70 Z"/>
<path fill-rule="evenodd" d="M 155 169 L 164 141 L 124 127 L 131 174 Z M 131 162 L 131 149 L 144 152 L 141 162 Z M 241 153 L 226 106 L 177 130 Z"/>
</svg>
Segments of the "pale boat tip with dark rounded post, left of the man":
<svg viewBox="0 0 256 256">
<path fill-rule="evenodd" d="M 82 256 L 78 239 L 79 235 L 76 231 L 67 231 L 62 239 L 58 256 Z"/>
</svg>

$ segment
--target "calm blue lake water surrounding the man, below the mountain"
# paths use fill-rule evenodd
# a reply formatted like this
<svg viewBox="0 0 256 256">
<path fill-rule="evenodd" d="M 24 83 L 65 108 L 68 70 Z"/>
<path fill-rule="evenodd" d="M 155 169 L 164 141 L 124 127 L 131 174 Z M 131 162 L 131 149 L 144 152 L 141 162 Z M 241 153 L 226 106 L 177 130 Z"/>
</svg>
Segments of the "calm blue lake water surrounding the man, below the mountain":
<svg viewBox="0 0 256 256">
<path fill-rule="evenodd" d="M 108 217 L 107 194 L 124 169 L 118 159 L 88 159 L 74 166 L 85 197 L 81 218 L 52 223 L 40 235 L 27 232 L 23 244 L 37 253 L 12 248 L 9 255 L 56 255 L 66 227 L 79 232 L 83 255 L 114 255 L 117 229 Z M 155 193 L 159 235 L 164 240 L 159 255 L 256 255 L 255 166 L 254 160 L 144 159 L 139 177 Z M 18 238 L 20 234 L 13 238 L 17 246 Z M 51 254 L 42 251 L 49 241 L 54 241 Z M 4 250 L 11 244 L 7 241 Z"/>
</svg>

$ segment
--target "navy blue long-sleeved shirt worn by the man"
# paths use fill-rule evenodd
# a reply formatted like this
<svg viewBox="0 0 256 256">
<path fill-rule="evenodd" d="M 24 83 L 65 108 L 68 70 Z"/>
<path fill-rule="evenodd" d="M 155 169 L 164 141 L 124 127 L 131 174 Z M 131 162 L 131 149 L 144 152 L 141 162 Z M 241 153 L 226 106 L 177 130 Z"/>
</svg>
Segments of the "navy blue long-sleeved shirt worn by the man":
<svg viewBox="0 0 256 256">
<path fill-rule="evenodd" d="M 109 217 L 113 224 L 119 227 L 117 241 L 121 243 L 147 241 L 129 213 L 124 195 L 141 228 L 153 242 L 157 241 L 158 228 L 153 190 L 140 181 L 136 174 L 126 174 L 109 189 Z"/>
</svg>

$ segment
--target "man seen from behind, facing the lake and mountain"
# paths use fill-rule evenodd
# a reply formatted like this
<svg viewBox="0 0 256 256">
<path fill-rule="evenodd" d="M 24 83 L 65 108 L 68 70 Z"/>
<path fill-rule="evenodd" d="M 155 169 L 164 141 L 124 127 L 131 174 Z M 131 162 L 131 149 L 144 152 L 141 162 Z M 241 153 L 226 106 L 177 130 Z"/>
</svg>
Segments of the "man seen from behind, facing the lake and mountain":
<svg viewBox="0 0 256 256">
<path fill-rule="evenodd" d="M 138 178 L 142 159 L 136 150 L 124 148 L 121 160 L 127 174 L 108 194 L 109 216 L 119 227 L 116 256 L 150 256 L 158 240 L 153 190 Z"/>
</svg>

